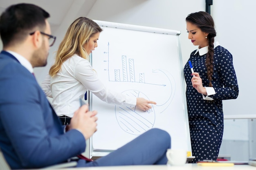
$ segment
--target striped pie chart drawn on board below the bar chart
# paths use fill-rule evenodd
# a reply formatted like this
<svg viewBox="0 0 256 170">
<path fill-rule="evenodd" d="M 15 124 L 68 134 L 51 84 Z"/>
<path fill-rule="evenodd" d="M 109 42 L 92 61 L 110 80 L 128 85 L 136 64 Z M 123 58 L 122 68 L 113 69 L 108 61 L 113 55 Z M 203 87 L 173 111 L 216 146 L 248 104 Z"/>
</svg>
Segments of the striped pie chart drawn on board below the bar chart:
<svg viewBox="0 0 256 170">
<path fill-rule="evenodd" d="M 148 99 L 146 95 L 137 90 L 128 90 L 122 92 L 128 96 L 143 97 Z M 149 100 L 149 99 L 148 99 Z M 117 122 L 122 130 L 132 135 L 141 135 L 141 133 L 153 128 L 155 124 L 155 110 L 152 108 L 142 111 L 139 108 L 128 106 L 115 106 L 115 114 Z"/>
</svg>

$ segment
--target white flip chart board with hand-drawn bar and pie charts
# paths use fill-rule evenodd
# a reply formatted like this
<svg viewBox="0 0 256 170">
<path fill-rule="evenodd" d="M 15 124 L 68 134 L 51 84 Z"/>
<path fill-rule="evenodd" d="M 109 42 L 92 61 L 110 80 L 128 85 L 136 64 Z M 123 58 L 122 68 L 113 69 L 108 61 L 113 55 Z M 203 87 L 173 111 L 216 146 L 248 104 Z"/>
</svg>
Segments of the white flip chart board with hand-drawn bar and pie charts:
<svg viewBox="0 0 256 170">
<path fill-rule="evenodd" d="M 157 102 L 146 112 L 107 104 L 89 93 L 97 110 L 97 132 L 89 155 L 104 156 L 151 128 L 166 130 L 171 147 L 191 151 L 180 31 L 97 22 L 103 31 L 90 62 L 106 86 L 129 96 Z"/>
</svg>

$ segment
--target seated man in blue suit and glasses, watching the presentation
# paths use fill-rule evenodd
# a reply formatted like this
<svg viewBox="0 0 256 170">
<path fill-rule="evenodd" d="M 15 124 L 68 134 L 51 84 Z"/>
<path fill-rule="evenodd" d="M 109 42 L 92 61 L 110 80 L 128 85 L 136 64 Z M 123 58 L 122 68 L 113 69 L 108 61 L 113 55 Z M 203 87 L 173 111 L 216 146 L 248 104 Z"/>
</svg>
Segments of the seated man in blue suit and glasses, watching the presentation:
<svg viewBox="0 0 256 170">
<path fill-rule="evenodd" d="M 64 132 L 36 82 L 33 68 L 45 66 L 51 35 L 49 13 L 33 4 L 16 4 L 0 16 L 0 148 L 12 169 L 41 168 L 66 162 L 85 151 L 97 130 L 97 111 L 79 108 Z M 77 166 L 166 164 L 167 132 L 151 129 L 96 161 Z"/>
</svg>

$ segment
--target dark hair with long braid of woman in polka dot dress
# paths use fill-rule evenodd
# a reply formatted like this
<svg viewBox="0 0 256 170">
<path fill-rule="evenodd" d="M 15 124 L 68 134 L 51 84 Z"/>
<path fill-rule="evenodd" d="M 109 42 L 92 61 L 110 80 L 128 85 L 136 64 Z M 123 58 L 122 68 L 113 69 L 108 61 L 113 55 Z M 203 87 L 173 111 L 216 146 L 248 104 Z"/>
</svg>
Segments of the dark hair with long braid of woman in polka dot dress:
<svg viewBox="0 0 256 170">
<path fill-rule="evenodd" d="M 202 32 L 208 33 L 207 40 L 209 42 L 208 53 L 206 54 L 205 65 L 207 67 L 207 76 L 209 80 L 209 86 L 212 87 L 211 80 L 213 75 L 213 43 L 214 37 L 216 37 L 216 31 L 214 28 L 214 21 L 211 15 L 207 12 L 200 11 L 191 13 L 186 17 L 186 22 L 190 22 L 198 26 Z"/>
</svg>

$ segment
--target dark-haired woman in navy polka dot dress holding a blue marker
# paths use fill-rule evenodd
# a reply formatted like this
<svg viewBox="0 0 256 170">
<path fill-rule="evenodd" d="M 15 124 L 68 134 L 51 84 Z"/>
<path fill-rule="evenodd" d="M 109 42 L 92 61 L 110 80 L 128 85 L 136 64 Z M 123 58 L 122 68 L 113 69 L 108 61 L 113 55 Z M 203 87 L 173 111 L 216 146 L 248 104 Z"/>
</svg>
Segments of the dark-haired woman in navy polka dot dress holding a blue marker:
<svg viewBox="0 0 256 170">
<path fill-rule="evenodd" d="M 193 162 L 216 160 L 223 134 L 222 100 L 238 97 L 238 84 L 231 53 L 214 43 L 216 31 L 209 13 L 186 17 L 189 39 L 198 49 L 184 66 Z M 193 76 L 192 76 L 193 75 Z"/>
</svg>

